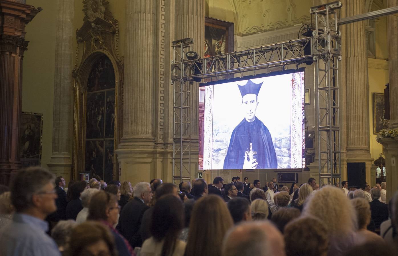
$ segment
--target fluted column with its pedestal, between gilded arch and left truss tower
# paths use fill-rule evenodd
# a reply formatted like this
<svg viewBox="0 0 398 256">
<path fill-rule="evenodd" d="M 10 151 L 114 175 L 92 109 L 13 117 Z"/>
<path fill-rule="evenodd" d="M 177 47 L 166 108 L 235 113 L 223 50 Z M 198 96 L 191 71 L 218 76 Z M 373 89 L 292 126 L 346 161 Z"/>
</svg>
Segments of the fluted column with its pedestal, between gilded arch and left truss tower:
<svg viewBox="0 0 398 256">
<path fill-rule="evenodd" d="M 158 31 L 162 5 L 164 1 L 158 0 L 126 1 L 123 136 L 115 152 L 119 179 L 131 183 L 149 181 L 156 175 L 158 164 L 155 88 L 159 78 Z"/>
</svg>

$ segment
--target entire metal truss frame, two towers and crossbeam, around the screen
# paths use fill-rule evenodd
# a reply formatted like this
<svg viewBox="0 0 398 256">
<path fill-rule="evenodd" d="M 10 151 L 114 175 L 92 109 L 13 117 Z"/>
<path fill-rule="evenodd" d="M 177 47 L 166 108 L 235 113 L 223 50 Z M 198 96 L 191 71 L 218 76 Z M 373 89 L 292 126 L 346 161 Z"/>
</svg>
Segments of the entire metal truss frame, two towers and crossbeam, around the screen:
<svg viewBox="0 0 398 256">
<path fill-rule="evenodd" d="M 311 8 L 312 35 L 258 48 L 231 52 L 208 58 L 195 58 L 190 52 L 193 40 L 185 38 L 172 42 L 174 59 L 171 64 L 171 82 L 174 85 L 174 145 L 173 179 L 188 180 L 191 175 L 191 102 L 193 81 L 217 81 L 226 77 L 272 71 L 298 69 L 299 65 L 315 63 L 318 111 L 319 175 L 322 184 L 336 182 L 341 177 L 338 61 L 340 32 L 336 13 L 341 2 Z M 310 33 L 309 32 L 309 33 Z M 311 34 L 311 33 L 310 33 Z M 188 56 L 191 58 L 187 57 Z M 193 56 L 193 57 L 192 57 Z M 194 58 L 194 59 L 192 59 Z"/>
</svg>

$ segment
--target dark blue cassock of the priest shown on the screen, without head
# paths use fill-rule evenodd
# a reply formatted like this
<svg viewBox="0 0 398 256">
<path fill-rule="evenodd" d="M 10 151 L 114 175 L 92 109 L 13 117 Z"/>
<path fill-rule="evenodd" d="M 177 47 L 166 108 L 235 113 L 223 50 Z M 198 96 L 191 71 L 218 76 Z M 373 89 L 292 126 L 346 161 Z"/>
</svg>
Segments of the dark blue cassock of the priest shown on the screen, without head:
<svg viewBox="0 0 398 256">
<path fill-rule="evenodd" d="M 252 143 L 252 148 L 250 148 Z M 278 162 L 271 134 L 257 117 L 248 122 L 244 118 L 232 131 L 231 140 L 224 160 L 224 169 L 242 169 L 245 152 L 253 151 L 258 169 L 276 169 Z"/>
</svg>

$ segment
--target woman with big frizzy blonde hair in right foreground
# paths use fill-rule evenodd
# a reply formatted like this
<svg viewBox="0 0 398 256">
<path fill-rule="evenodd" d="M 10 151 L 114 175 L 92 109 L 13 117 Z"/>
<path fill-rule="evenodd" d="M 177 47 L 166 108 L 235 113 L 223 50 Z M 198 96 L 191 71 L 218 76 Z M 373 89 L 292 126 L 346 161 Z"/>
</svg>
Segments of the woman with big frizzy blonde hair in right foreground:
<svg viewBox="0 0 398 256">
<path fill-rule="evenodd" d="M 330 242 L 328 255 L 344 255 L 355 245 L 355 209 L 341 189 L 332 186 L 322 187 L 308 198 L 302 216 L 314 216 L 326 223 Z"/>
</svg>

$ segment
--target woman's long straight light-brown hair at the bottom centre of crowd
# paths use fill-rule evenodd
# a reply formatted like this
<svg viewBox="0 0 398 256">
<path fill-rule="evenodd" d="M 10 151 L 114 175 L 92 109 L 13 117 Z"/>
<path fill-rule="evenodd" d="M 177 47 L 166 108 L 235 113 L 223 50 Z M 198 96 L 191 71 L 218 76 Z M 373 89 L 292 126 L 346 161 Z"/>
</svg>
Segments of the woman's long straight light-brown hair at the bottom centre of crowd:
<svg viewBox="0 0 398 256">
<path fill-rule="evenodd" d="M 220 256 L 222 239 L 232 225 L 231 214 L 220 196 L 200 198 L 193 206 L 185 255 Z"/>
</svg>

